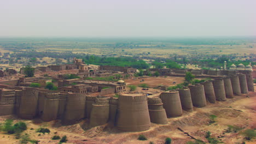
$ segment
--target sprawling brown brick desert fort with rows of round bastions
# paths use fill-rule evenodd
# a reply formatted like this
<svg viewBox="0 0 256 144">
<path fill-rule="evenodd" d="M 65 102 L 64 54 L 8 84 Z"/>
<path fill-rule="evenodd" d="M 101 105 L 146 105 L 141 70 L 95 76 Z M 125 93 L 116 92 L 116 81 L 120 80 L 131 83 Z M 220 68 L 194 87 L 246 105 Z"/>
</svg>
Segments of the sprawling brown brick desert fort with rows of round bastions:
<svg viewBox="0 0 256 144">
<path fill-rule="evenodd" d="M 74 59 L 72 65 L 48 67 L 50 70 L 79 69 L 79 73 L 90 73 L 88 65 Z M 41 68 L 42 70 L 42 68 Z M 43 69 L 49 70 L 49 69 Z M 135 73 L 130 67 L 100 66 L 91 74 Z M 121 131 L 144 131 L 151 123 L 166 124 L 167 118 L 181 117 L 183 110 L 191 112 L 193 106 L 204 107 L 207 101 L 214 104 L 237 95 L 254 92 L 250 70 L 184 70 L 150 69 L 162 76 L 185 76 L 190 71 L 196 77 L 211 77 L 213 80 L 189 85 L 181 89 L 158 94 L 127 92 L 125 80 L 63 79 L 63 77 L 20 77 L 18 80 L 0 82 L 0 116 L 17 115 L 23 119 L 40 118 L 43 121 L 60 119 L 63 125 L 74 124 L 87 118 L 90 127 L 112 123 Z M 106 72 L 106 73 L 105 73 Z M 108 75 L 109 76 L 109 75 Z M 120 77 L 119 77 L 120 78 Z M 57 91 L 44 89 L 45 83 L 54 79 Z M 43 87 L 29 87 L 38 82 Z M 8 83 L 8 85 L 6 85 Z M 109 97 L 117 94 L 119 97 Z"/>
</svg>

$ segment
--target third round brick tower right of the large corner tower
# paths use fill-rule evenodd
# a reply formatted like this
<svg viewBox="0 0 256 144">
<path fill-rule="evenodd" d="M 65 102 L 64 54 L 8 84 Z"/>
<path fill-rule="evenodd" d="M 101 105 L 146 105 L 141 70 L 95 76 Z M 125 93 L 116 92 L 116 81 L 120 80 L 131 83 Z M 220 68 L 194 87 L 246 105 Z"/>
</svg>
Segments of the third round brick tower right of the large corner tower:
<svg viewBox="0 0 256 144">
<path fill-rule="evenodd" d="M 181 99 L 182 109 L 185 111 L 193 111 L 193 103 L 191 99 L 190 89 L 184 87 L 179 89 L 179 98 Z"/>
</svg>

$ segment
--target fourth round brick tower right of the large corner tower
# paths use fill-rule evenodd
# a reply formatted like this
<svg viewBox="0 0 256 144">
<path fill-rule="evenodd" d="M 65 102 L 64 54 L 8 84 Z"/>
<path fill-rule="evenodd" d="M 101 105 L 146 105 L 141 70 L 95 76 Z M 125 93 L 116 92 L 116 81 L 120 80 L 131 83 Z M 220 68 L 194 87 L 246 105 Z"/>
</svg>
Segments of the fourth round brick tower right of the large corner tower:
<svg viewBox="0 0 256 144">
<path fill-rule="evenodd" d="M 206 106 L 205 90 L 203 85 L 196 84 L 195 86 L 189 86 L 192 103 L 196 107 Z"/>
</svg>

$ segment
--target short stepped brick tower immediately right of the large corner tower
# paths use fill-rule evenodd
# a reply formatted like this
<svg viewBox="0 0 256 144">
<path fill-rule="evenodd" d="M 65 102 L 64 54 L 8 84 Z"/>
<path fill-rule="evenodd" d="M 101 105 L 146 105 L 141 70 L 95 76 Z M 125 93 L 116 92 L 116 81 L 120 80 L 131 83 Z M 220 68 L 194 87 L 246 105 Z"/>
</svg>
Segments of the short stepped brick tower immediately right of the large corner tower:
<svg viewBox="0 0 256 144">
<path fill-rule="evenodd" d="M 162 100 L 159 97 L 148 98 L 148 110 L 152 123 L 167 124 L 167 117 Z"/>
</svg>

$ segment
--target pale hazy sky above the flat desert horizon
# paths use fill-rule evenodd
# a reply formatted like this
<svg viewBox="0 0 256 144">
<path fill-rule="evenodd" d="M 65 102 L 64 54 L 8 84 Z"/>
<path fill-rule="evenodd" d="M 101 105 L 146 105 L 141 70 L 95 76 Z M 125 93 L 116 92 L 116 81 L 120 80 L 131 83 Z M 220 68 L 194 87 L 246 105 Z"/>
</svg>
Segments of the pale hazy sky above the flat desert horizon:
<svg viewBox="0 0 256 144">
<path fill-rule="evenodd" d="M 256 0 L 0 0 L 0 37 L 256 35 Z"/>
</svg>

